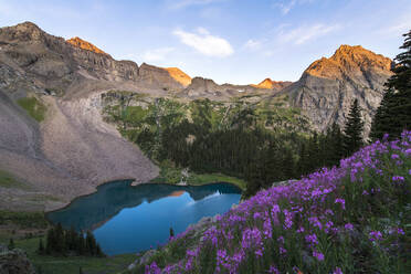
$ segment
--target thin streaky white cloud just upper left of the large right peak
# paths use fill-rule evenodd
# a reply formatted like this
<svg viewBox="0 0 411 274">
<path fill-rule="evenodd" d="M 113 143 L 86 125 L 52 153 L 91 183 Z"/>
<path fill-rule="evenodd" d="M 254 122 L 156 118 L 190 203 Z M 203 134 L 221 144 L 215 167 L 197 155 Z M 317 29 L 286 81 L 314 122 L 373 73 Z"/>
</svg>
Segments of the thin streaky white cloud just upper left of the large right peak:
<svg viewBox="0 0 411 274">
<path fill-rule="evenodd" d="M 323 36 L 327 33 L 337 31 L 338 29 L 340 29 L 339 24 L 302 25 L 293 30 L 282 30 L 278 34 L 278 39 L 282 42 L 294 42 L 294 44 L 304 44 L 309 40 Z"/>
</svg>

